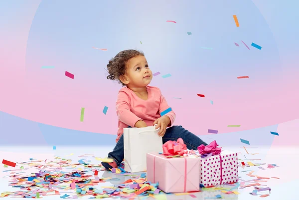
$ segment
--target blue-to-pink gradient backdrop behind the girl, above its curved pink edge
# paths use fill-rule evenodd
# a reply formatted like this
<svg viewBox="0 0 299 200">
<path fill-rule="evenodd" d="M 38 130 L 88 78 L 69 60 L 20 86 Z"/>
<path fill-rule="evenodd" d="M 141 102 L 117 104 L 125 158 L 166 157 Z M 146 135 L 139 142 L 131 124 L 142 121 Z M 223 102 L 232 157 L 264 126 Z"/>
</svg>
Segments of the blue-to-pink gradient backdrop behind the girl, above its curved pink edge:
<svg viewBox="0 0 299 200">
<path fill-rule="evenodd" d="M 175 125 L 198 135 L 208 129 L 230 133 L 292 120 L 298 125 L 299 2 L 7 0 L 0 5 L 4 113 L 55 127 L 116 134 L 115 101 L 121 85 L 106 79 L 105 67 L 119 51 L 137 48 L 152 71 L 161 72 L 151 85 L 162 90 L 176 112 Z M 262 50 L 250 46 L 252 42 Z M 75 78 L 66 77 L 65 71 Z M 161 77 L 167 73 L 172 76 Z M 249 79 L 237 79 L 247 75 Z M 109 107 L 106 115 L 104 106 Z M 296 139 L 275 137 L 274 143 L 295 145 Z"/>
</svg>

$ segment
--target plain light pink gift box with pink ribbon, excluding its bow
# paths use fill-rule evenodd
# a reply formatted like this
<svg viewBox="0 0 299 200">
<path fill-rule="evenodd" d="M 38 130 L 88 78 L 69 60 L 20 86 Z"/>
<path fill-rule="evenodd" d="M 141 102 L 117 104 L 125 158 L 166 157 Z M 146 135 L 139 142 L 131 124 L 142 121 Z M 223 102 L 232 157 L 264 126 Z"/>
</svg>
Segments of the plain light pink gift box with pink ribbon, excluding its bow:
<svg viewBox="0 0 299 200">
<path fill-rule="evenodd" d="M 147 153 L 148 181 L 159 183 L 165 193 L 199 191 L 200 159 L 192 157 L 166 158 Z"/>
</svg>

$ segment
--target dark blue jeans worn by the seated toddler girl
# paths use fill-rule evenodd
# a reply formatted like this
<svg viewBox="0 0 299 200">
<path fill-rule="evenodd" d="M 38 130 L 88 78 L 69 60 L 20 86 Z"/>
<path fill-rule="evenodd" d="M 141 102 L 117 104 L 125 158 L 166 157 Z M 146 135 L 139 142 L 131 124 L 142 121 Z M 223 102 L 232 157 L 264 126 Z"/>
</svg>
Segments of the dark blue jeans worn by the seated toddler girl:
<svg viewBox="0 0 299 200">
<path fill-rule="evenodd" d="M 130 127 L 129 127 L 130 128 Z M 163 144 L 166 141 L 176 141 L 178 138 L 182 138 L 184 143 L 187 145 L 187 149 L 197 149 L 197 146 L 200 144 L 207 145 L 204 141 L 202 141 L 198 136 L 193 133 L 190 133 L 188 130 L 185 130 L 182 126 L 172 126 L 166 129 L 166 133 L 162 137 Z M 119 166 L 124 159 L 124 134 L 118 140 L 116 146 L 113 151 L 108 154 L 108 158 L 114 159 L 117 166 Z M 107 169 L 110 166 L 107 163 L 102 163 L 103 166 Z M 108 170 L 108 169 L 107 169 Z"/>
</svg>

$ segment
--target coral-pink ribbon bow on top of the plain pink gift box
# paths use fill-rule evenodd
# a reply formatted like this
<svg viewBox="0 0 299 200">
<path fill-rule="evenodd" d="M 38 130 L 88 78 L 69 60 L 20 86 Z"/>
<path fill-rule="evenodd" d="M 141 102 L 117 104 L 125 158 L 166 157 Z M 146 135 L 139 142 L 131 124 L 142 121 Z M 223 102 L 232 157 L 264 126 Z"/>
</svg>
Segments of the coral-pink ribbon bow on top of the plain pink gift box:
<svg viewBox="0 0 299 200">
<path fill-rule="evenodd" d="M 163 144 L 163 155 L 183 155 L 187 150 L 186 144 L 182 138 L 178 138 L 177 141 L 166 141 Z"/>
</svg>

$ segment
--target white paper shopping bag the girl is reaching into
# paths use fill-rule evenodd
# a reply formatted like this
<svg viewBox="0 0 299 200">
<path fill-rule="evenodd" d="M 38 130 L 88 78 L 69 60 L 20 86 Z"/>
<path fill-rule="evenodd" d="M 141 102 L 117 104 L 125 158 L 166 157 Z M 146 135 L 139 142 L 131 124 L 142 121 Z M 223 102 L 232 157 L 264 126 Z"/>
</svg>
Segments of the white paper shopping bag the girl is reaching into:
<svg viewBox="0 0 299 200">
<path fill-rule="evenodd" d="M 162 137 L 155 126 L 124 128 L 125 170 L 141 172 L 147 169 L 147 153 L 162 151 Z"/>
</svg>

